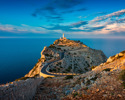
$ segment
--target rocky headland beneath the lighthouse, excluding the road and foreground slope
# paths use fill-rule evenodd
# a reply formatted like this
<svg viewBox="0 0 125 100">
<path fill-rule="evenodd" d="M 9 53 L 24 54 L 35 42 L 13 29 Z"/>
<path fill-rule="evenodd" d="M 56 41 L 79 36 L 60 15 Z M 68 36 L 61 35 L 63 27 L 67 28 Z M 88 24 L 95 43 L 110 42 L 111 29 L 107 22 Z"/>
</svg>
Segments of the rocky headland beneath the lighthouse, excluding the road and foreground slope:
<svg viewBox="0 0 125 100">
<path fill-rule="evenodd" d="M 91 66 L 97 66 L 106 59 L 102 51 L 91 49 L 80 41 L 58 39 L 49 47 L 44 47 L 41 58 L 25 77 L 39 76 L 45 63 L 56 60 L 58 61 L 49 65 L 50 72 L 84 73 L 89 71 Z"/>
</svg>

